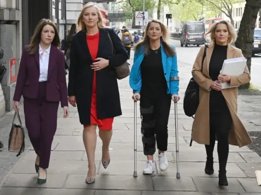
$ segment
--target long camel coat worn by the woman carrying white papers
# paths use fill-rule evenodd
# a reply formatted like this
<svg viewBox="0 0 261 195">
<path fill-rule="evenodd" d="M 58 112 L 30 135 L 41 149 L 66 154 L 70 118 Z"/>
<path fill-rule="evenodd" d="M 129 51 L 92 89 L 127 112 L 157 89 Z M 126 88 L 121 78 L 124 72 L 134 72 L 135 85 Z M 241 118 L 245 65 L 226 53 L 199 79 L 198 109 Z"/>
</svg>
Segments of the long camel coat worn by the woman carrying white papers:
<svg viewBox="0 0 261 195">
<path fill-rule="evenodd" d="M 196 110 L 195 120 L 193 124 L 192 140 L 198 144 L 209 145 L 209 94 L 212 80 L 209 76 L 209 62 L 214 49 L 214 44 L 206 49 L 206 56 L 203 61 L 202 73 L 202 57 L 205 46 L 201 46 L 192 69 L 192 75 L 196 83 L 199 85 L 199 105 Z M 241 49 L 235 48 L 228 44 L 227 59 L 243 57 Z M 239 76 L 231 76 L 230 86 L 239 86 L 250 82 L 250 73 L 246 65 L 244 73 Z M 229 132 L 229 144 L 235 146 L 247 146 L 252 140 L 237 116 L 237 97 L 238 88 L 229 88 L 221 90 L 232 117 L 232 127 Z"/>
</svg>

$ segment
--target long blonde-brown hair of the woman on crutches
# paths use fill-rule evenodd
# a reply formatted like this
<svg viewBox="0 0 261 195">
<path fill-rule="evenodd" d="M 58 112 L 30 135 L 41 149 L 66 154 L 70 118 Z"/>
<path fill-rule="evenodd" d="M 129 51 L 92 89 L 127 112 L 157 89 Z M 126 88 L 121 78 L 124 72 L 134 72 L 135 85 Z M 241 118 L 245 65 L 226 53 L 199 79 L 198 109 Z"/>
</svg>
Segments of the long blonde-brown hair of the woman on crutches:
<svg viewBox="0 0 261 195">
<path fill-rule="evenodd" d="M 171 45 L 169 45 L 167 43 L 167 40 L 169 38 L 168 28 L 158 19 L 153 19 L 148 22 L 148 24 L 145 28 L 145 31 L 144 31 L 143 39 L 136 45 L 136 47 L 134 47 L 134 50 L 140 49 L 142 46 L 144 46 L 145 55 L 148 55 L 150 44 L 149 44 L 149 37 L 147 36 L 147 33 L 148 33 L 148 29 L 150 27 L 150 24 L 153 22 L 158 23 L 160 25 L 160 28 L 162 31 L 162 37 L 160 38 L 160 42 L 162 43 L 165 53 L 167 54 L 167 56 L 175 56 L 175 53 L 176 53 L 175 50 L 172 48 Z"/>
</svg>

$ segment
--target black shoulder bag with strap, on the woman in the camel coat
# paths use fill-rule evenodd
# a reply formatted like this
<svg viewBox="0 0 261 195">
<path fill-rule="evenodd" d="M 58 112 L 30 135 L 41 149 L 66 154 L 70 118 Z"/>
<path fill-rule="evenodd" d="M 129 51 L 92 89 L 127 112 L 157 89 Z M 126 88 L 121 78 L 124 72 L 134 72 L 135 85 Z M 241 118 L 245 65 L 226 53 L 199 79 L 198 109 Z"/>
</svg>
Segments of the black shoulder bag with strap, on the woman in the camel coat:
<svg viewBox="0 0 261 195">
<path fill-rule="evenodd" d="M 206 56 L 206 48 L 207 46 L 205 45 L 202 64 L 201 64 L 201 73 L 203 69 L 203 61 Z M 198 104 L 199 104 L 199 86 L 194 80 L 194 78 L 192 77 L 186 89 L 184 100 L 183 100 L 183 109 L 185 114 L 189 117 L 193 117 L 193 115 L 196 114 L 196 109 L 198 107 Z"/>
</svg>

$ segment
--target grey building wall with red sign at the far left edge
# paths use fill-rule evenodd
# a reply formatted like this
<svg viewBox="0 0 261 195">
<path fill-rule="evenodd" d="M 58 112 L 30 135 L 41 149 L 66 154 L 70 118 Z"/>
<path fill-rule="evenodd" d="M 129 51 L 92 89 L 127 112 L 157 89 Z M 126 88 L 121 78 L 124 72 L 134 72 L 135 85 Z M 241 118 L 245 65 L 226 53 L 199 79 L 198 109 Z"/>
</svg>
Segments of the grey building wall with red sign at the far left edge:
<svg viewBox="0 0 261 195">
<path fill-rule="evenodd" d="M 12 106 L 17 66 L 22 48 L 22 0 L 0 0 L 0 47 L 4 57 L 1 63 L 7 71 L 0 85 L 0 117 Z"/>
</svg>

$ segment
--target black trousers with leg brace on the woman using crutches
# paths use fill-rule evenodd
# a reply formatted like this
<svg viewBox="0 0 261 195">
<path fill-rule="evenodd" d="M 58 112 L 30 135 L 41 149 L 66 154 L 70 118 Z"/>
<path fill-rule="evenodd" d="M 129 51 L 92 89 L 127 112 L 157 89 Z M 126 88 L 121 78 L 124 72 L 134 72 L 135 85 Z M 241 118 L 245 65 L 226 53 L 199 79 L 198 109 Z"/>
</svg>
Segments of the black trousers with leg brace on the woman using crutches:
<svg viewBox="0 0 261 195">
<path fill-rule="evenodd" d="M 156 151 L 156 141 L 159 150 L 167 150 L 171 95 L 147 97 L 140 95 L 141 134 L 144 155 L 153 155 Z"/>
</svg>

